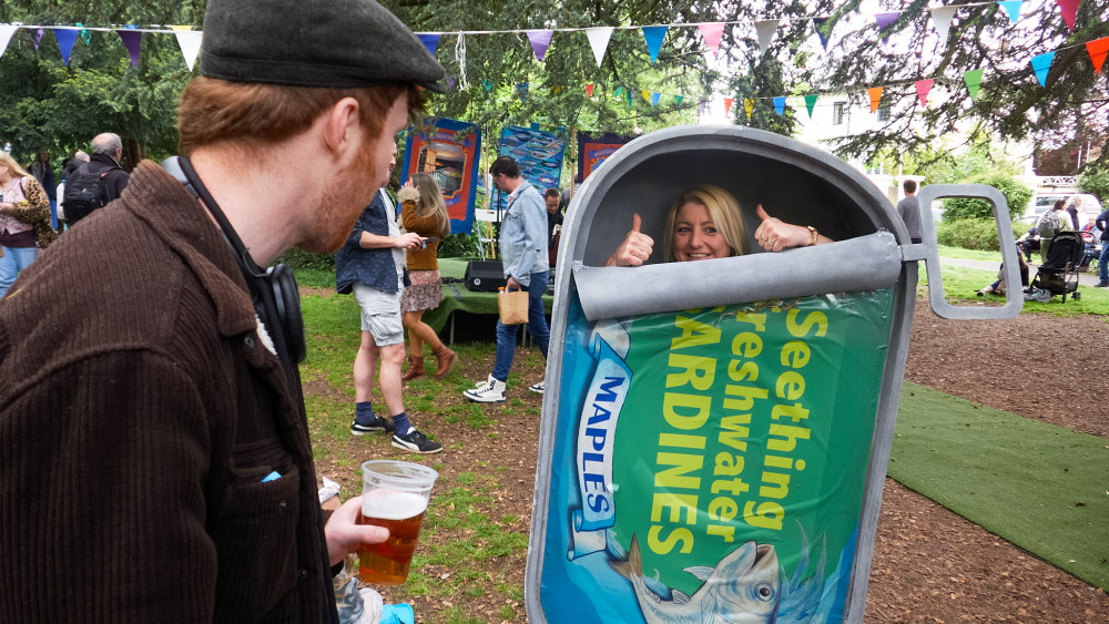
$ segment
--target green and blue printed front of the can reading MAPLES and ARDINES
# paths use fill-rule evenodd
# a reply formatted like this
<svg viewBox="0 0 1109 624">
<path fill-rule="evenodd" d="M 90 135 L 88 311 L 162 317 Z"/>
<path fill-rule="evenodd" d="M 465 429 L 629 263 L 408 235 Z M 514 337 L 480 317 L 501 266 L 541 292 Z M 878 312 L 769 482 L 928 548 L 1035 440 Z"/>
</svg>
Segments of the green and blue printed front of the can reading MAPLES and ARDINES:
<svg viewBox="0 0 1109 624">
<path fill-rule="evenodd" d="M 586 319 L 568 296 L 549 622 L 840 622 L 894 289 Z"/>
</svg>

